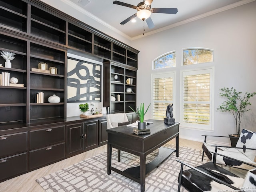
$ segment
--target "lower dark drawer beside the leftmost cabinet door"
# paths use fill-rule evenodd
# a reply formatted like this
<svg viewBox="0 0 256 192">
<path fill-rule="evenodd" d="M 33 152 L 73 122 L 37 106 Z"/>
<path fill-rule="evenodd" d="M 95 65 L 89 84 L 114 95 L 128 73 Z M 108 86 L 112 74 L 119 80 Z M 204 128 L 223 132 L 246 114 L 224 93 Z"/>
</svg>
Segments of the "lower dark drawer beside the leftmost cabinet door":
<svg viewBox="0 0 256 192">
<path fill-rule="evenodd" d="M 29 152 L 29 169 L 34 169 L 65 157 L 65 143 Z"/>
</svg>

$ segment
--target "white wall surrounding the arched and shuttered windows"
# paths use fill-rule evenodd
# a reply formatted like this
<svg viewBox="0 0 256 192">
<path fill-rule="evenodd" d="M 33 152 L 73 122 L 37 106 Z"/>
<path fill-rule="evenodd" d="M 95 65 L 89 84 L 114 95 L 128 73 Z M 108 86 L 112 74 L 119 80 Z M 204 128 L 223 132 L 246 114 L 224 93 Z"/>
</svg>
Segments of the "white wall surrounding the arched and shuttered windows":
<svg viewBox="0 0 256 192">
<path fill-rule="evenodd" d="M 132 47 L 140 50 L 137 73 L 137 103 L 150 103 L 152 61 L 176 50 L 176 121 L 180 121 L 180 70 L 214 66 L 214 133 L 180 129 L 181 138 L 202 140 L 202 134 L 226 135 L 236 132 L 234 118 L 228 112 L 217 112 L 221 104 L 220 88 L 234 87 L 239 91 L 256 92 L 256 2 L 134 40 Z M 214 50 L 214 62 L 181 66 L 182 48 L 202 47 Z M 167 71 L 166 69 L 164 70 Z M 256 96 L 250 100 L 252 111 L 246 112 L 242 128 L 256 131 Z M 146 114 L 150 118 L 150 112 Z M 221 142 L 228 142 L 227 139 Z"/>
</svg>

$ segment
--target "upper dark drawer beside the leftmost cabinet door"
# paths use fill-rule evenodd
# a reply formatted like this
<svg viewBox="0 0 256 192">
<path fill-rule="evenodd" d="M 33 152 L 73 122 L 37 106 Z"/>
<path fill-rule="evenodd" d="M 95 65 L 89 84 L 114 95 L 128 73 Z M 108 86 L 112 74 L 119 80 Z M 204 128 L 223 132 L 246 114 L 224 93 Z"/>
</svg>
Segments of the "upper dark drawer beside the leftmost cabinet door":
<svg viewBox="0 0 256 192">
<path fill-rule="evenodd" d="M 50 127 L 29 132 L 29 149 L 38 149 L 65 141 L 65 126 Z"/>
</svg>

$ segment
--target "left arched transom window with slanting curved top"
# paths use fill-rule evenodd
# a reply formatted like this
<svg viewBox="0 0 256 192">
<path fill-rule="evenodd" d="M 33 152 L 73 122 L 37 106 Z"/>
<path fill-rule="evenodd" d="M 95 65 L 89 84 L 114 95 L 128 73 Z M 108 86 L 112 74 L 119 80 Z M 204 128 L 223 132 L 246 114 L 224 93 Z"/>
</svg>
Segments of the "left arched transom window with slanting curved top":
<svg viewBox="0 0 256 192">
<path fill-rule="evenodd" d="M 176 52 L 170 52 L 154 61 L 154 69 L 162 69 L 176 66 Z"/>
</svg>

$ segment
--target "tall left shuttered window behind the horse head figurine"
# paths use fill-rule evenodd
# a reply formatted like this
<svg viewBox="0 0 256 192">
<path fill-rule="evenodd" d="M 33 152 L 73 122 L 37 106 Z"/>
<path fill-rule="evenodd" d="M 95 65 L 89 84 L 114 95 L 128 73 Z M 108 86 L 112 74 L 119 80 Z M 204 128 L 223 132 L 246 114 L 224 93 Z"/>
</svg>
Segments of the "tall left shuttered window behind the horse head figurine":
<svg viewBox="0 0 256 192">
<path fill-rule="evenodd" d="M 163 120 L 168 104 L 174 103 L 174 72 L 152 74 L 152 118 Z"/>
</svg>

